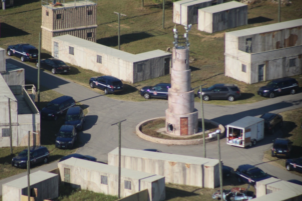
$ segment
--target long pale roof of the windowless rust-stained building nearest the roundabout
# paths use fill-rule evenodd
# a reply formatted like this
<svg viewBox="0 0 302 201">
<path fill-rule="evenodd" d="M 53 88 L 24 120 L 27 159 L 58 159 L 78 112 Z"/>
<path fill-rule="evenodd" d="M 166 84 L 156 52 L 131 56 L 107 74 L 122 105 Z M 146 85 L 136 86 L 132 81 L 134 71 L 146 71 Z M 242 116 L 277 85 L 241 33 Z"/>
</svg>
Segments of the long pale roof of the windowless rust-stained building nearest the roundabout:
<svg viewBox="0 0 302 201">
<path fill-rule="evenodd" d="M 112 150 L 108 154 L 118 155 L 118 148 Z M 218 159 L 208 159 L 187 155 L 177 155 L 170 153 L 160 153 L 160 152 L 150 152 L 137 149 L 127 149 L 121 148 L 121 155 L 139 157 L 139 158 L 148 158 L 148 159 L 157 159 L 157 160 L 166 160 L 173 162 L 182 162 L 195 165 L 206 165 L 206 166 L 215 166 L 219 163 Z"/>
</svg>

